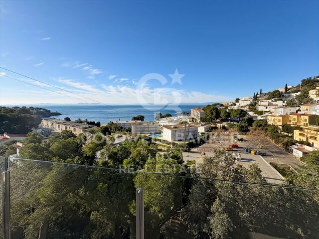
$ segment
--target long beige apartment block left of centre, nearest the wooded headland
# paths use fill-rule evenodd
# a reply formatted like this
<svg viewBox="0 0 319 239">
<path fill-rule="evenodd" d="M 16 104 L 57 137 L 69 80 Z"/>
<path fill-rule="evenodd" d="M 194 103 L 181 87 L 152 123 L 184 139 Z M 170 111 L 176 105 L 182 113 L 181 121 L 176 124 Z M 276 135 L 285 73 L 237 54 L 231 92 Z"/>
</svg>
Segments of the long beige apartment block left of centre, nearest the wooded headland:
<svg viewBox="0 0 319 239">
<path fill-rule="evenodd" d="M 64 119 L 42 119 L 42 128 L 48 128 L 52 131 L 61 132 L 62 130 L 71 130 L 75 135 L 83 133 L 85 129 L 96 127 L 94 125 L 88 125 L 83 123 L 76 123 L 72 121 L 66 121 Z"/>
</svg>

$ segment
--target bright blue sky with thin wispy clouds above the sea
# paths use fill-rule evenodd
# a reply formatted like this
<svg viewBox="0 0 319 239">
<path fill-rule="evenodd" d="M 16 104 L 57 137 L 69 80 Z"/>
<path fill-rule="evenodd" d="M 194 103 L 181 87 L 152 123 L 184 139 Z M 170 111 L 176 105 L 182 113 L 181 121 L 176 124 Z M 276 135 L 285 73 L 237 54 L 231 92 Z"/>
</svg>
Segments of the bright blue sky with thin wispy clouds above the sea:
<svg viewBox="0 0 319 239">
<path fill-rule="evenodd" d="M 0 66 L 106 104 L 229 101 L 319 75 L 318 12 L 318 0 L 1 1 Z M 92 102 L 0 72 L 60 93 L 0 77 L 0 104 Z M 139 84 L 150 73 L 166 81 Z"/>
</svg>

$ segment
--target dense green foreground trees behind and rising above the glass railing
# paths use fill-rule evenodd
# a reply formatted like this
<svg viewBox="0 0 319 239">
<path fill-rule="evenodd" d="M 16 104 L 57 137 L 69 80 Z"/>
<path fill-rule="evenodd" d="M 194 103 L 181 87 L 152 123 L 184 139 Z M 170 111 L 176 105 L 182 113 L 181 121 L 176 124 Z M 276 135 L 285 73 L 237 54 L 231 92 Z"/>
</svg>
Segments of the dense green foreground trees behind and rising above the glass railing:
<svg viewBox="0 0 319 239">
<path fill-rule="evenodd" d="M 276 129 L 266 131 L 271 135 Z M 17 160 L 10 167 L 12 238 L 135 239 L 139 187 L 145 190 L 145 238 L 319 235 L 318 193 L 247 184 L 267 184 L 257 164 L 244 168 L 231 153 L 216 149 L 194 170 L 193 162 L 182 159 L 184 145 L 159 152 L 149 140 L 115 145 L 102 134 L 93 138 L 85 142 L 84 135 L 68 130 L 47 141 L 28 134 L 22 157 L 109 169 Z M 287 184 L 318 188 L 318 180 L 305 173 L 318 170 L 318 158 L 314 153 L 305 159 L 310 168 L 290 176 Z"/>
</svg>

